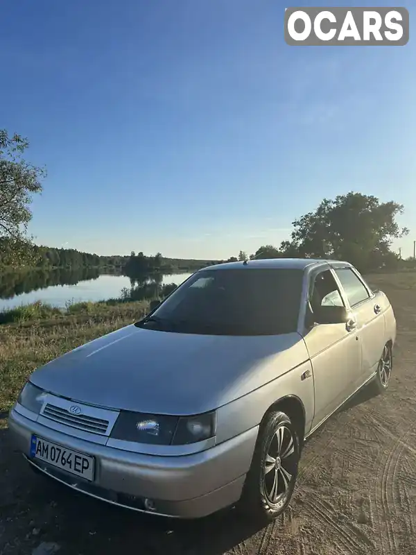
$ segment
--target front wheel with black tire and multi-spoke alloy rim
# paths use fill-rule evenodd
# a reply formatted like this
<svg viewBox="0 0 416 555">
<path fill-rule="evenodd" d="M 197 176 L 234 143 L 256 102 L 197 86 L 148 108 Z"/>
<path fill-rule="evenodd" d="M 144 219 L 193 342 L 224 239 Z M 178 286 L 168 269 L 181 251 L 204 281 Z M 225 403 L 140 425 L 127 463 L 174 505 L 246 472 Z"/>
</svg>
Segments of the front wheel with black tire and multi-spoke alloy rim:
<svg viewBox="0 0 416 555">
<path fill-rule="evenodd" d="M 295 488 L 299 460 L 295 425 L 284 412 L 268 413 L 260 427 L 238 509 L 264 524 L 283 513 Z"/>
</svg>

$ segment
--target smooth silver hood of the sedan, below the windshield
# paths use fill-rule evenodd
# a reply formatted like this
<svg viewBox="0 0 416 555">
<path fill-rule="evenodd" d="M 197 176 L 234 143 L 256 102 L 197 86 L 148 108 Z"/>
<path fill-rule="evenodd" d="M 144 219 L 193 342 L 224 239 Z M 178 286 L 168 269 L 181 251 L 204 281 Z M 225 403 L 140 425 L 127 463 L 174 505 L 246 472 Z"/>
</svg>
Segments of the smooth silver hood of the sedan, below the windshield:
<svg viewBox="0 0 416 555">
<path fill-rule="evenodd" d="M 213 336 L 129 325 L 38 368 L 31 382 L 78 402 L 179 416 L 216 409 L 307 358 L 297 333 Z"/>
</svg>

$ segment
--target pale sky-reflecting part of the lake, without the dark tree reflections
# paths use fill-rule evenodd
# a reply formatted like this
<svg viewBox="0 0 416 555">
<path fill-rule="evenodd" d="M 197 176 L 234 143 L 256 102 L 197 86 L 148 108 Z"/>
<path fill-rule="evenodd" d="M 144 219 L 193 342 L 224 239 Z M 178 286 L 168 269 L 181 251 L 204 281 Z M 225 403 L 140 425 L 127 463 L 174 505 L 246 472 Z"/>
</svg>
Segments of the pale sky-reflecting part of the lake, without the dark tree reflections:
<svg viewBox="0 0 416 555">
<path fill-rule="evenodd" d="M 164 275 L 162 284 L 181 284 L 189 277 L 189 273 Z M 59 284 L 15 294 L 12 298 L 0 298 L 0 311 L 19 305 L 28 305 L 40 300 L 55 307 L 65 307 L 66 302 L 84 302 L 119 298 L 123 288 L 130 289 L 130 278 L 125 275 L 99 275 L 98 278 L 80 280 L 78 283 Z"/>
</svg>

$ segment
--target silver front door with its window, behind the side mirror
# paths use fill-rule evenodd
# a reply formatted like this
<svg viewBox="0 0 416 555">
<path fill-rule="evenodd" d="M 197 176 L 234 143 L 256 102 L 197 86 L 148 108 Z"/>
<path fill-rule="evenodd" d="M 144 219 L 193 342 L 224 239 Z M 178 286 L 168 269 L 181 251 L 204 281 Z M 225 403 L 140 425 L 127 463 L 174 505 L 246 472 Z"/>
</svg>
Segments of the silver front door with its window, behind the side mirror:
<svg viewBox="0 0 416 555">
<path fill-rule="evenodd" d="M 311 276 L 308 304 L 306 318 L 309 321 L 304 341 L 313 366 L 315 427 L 354 393 L 354 384 L 361 371 L 361 348 L 354 321 L 349 325 L 313 321 L 313 310 L 320 305 L 346 305 L 330 269 Z"/>
</svg>

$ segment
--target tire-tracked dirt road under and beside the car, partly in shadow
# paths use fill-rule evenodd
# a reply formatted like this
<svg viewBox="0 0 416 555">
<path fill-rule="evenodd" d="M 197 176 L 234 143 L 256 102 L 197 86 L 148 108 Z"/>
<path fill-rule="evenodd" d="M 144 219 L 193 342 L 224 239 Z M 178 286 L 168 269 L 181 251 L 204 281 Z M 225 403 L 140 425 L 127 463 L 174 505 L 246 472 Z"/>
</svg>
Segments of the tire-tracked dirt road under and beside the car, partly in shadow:
<svg viewBox="0 0 416 555">
<path fill-rule="evenodd" d="M 253 529 L 232 511 L 170 522 L 73 495 L 10 452 L 0 415 L 0 554 L 55 542 L 60 555 L 414 555 L 416 289 L 395 276 L 372 282 L 397 316 L 390 389 L 370 399 L 361 393 L 311 438 L 291 506 L 277 522 Z"/>
</svg>

